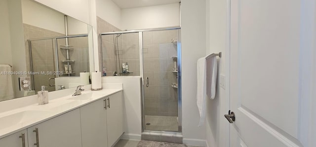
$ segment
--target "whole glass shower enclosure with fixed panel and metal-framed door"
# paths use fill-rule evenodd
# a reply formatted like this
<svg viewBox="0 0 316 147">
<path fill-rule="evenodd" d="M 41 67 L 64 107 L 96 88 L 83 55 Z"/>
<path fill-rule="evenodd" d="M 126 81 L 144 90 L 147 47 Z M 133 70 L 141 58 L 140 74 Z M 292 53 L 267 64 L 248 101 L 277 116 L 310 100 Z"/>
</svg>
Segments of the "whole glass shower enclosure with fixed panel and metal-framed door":
<svg viewBox="0 0 316 147">
<path fill-rule="evenodd" d="M 142 77 L 144 131 L 182 131 L 180 33 L 163 28 L 100 34 L 106 75 Z"/>
</svg>

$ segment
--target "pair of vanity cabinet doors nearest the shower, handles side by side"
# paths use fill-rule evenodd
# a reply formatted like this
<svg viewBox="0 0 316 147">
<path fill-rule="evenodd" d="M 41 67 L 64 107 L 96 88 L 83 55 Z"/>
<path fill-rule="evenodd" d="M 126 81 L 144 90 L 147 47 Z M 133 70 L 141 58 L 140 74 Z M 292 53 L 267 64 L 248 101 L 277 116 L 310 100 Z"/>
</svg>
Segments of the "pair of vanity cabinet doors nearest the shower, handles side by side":
<svg viewBox="0 0 316 147">
<path fill-rule="evenodd" d="M 80 108 L 82 147 L 112 147 L 123 133 L 122 92 Z"/>
</svg>

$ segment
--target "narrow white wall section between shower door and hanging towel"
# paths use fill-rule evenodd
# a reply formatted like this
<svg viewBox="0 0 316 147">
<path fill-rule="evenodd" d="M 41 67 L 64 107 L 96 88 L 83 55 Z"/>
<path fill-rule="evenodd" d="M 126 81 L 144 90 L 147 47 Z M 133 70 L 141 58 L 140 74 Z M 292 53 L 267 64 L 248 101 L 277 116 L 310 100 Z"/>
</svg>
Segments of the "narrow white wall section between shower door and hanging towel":
<svg viewBox="0 0 316 147">
<path fill-rule="evenodd" d="M 183 142 L 205 146 L 206 127 L 197 127 L 197 59 L 205 57 L 205 0 L 181 1 Z"/>
</svg>

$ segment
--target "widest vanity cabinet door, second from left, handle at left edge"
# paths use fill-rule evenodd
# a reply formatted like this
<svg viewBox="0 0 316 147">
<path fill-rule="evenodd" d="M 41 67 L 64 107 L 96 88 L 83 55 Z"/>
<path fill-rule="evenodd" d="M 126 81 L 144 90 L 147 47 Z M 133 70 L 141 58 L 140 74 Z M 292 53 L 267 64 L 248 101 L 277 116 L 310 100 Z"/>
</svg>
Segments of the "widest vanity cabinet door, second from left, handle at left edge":
<svg viewBox="0 0 316 147">
<path fill-rule="evenodd" d="M 37 147 L 34 145 L 37 142 L 36 128 L 39 147 L 81 147 L 79 109 L 28 128 L 29 147 Z"/>
</svg>

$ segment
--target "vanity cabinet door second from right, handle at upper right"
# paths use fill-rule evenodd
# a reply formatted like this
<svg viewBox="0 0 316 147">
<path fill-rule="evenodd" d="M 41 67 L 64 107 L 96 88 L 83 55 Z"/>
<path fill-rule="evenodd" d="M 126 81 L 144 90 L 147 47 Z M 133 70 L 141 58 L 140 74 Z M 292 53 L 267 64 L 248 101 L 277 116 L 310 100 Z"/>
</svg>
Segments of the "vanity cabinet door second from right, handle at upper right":
<svg viewBox="0 0 316 147">
<path fill-rule="evenodd" d="M 105 100 L 80 108 L 82 147 L 108 147 Z"/>
</svg>

